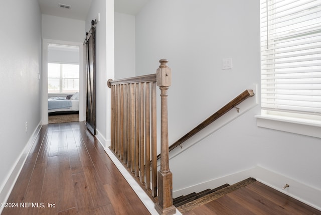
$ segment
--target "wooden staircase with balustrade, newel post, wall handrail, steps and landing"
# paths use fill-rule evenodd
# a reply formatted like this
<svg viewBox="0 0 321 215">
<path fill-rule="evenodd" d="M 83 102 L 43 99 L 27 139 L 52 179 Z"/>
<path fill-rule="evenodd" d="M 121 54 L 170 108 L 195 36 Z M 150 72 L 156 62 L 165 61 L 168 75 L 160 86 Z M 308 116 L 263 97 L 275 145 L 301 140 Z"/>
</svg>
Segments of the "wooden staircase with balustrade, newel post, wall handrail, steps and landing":
<svg viewBox="0 0 321 215">
<path fill-rule="evenodd" d="M 171 86 L 172 72 L 167 66 L 168 60 L 161 59 L 159 62 L 161 65 L 155 74 L 120 80 L 109 79 L 107 82 L 111 88 L 110 149 L 155 202 L 154 208 L 159 214 L 172 215 L 178 209 L 181 213 L 193 215 L 234 214 L 235 211 L 242 211 L 239 214 L 321 215 L 321 211 L 290 199 L 283 193 L 280 197 L 280 193 L 273 189 L 268 190 L 253 178 L 173 199 L 169 152 L 178 146 L 182 147 L 186 140 L 230 110 L 236 108 L 239 112 L 237 105 L 254 96 L 254 92 L 251 89 L 243 91 L 169 147 L 167 91 Z M 156 128 L 156 85 L 161 90 L 161 134 L 157 134 Z M 158 156 L 157 135 L 161 136 L 161 154 Z M 161 160 L 159 170 L 157 159 Z M 279 200 L 275 201 L 276 198 Z M 289 204 L 289 200 L 294 203 Z"/>
</svg>

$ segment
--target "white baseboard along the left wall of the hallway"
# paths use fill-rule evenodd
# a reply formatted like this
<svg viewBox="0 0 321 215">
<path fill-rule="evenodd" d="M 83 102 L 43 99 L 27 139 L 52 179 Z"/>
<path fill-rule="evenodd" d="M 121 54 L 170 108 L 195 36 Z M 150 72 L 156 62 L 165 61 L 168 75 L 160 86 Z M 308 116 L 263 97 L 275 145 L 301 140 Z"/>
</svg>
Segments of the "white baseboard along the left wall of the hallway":
<svg viewBox="0 0 321 215">
<path fill-rule="evenodd" d="M 28 157 L 29 151 L 32 148 L 32 145 L 42 127 L 42 122 L 40 122 L 34 131 L 34 133 L 29 138 L 24 150 L 21 152 L 20 156 L 17 158 L 16 163 L 14 164 L 13 168 L 11 169 L 10 173 L 8 174 L 6 182 L 1 187 L 0 191 L 0 202 L 6 202 L 9 198 L 9 195 L 14 188 L 14 185 L 18 179 L 18 176 L 24 166 L 26 159 Z M 2 213 L 3 207 L 0 207 L 0 214 Z"/>
</svg>

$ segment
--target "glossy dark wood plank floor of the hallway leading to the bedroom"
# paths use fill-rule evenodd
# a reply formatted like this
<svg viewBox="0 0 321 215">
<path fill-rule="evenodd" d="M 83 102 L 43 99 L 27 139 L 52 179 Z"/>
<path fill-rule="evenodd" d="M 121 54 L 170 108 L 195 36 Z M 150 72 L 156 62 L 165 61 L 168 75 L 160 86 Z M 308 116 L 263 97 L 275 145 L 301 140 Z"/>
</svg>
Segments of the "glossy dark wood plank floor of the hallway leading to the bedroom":
<svg viewBox="0 0 321 215">
<path fill-rule="evenodd" d="M 83 122 L 42 127 L 7 202 L 3 215 L 150 214 Z"/>
</svg>

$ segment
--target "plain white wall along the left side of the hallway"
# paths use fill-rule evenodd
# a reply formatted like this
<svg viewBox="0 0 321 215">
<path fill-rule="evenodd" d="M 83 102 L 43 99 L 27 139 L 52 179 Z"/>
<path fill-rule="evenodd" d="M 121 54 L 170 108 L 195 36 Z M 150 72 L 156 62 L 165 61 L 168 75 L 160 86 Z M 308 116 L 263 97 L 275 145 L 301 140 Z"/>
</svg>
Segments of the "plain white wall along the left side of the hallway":
<svg viewBox="0 0 321 215">
<path fill-rule="evenodd" d="M 2 2 L 0 19 L 3 42 L 0 49 L 0 201 L 4 201 L 19 173 L 19 165 L 23 164 L 24 149 L 41 122 L 41 13 L 38 1 Z"/>
</svg>

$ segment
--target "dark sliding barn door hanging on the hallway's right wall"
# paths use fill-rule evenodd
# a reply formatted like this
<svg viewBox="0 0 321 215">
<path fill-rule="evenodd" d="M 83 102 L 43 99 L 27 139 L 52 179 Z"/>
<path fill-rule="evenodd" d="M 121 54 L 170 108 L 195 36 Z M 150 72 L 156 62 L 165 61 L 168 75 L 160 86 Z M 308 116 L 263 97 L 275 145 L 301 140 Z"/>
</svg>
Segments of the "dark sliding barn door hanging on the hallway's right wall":
<svg viewBox="0 0 321 215">
<path fill-rule="evenodd" d="M 86 125 L 96 135 L 95 28 L 86 37 Z"/>
</svg>

